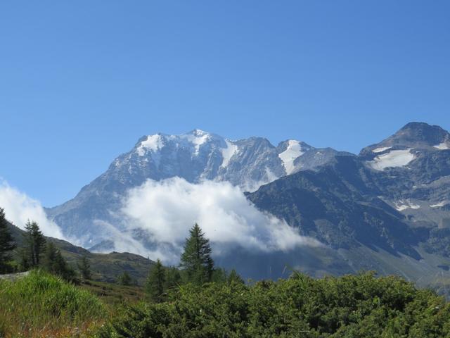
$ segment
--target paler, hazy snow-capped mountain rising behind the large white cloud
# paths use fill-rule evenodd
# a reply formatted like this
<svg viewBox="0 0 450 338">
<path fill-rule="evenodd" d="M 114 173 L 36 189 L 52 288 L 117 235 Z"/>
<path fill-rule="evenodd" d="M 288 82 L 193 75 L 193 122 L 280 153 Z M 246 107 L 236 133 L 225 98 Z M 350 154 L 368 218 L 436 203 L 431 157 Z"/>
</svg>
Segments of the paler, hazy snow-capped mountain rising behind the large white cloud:
<svg viewBox="0 0 450 338">
<path fill-rule="evenodd" d="M 262 184 L 298 170 L 314 169 L 340 154 L 288 140 L 278 146 L 262 137 L 231 141 L 192 130 L 181 135 L 141 137 L 127 154 L 115 158 L 108 170 L 81 189 L 74 199 L 46 209 L 68 238 L 98 251 L 113 249 L 110 232 L 122 231 L 112 211 L 122 206 L 127 191 L 146 182 L 183 177 L 188 182 L 226 181 L 253 191 Z"/>
</svg>

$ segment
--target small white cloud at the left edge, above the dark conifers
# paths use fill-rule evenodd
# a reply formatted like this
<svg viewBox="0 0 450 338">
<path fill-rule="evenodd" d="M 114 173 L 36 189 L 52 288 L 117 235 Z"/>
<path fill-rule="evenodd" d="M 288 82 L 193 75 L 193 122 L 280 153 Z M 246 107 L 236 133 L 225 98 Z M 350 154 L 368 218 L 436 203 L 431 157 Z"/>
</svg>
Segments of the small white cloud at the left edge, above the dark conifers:
<svg viewBox="0 0 450 338">
<path fill-rule="evenodd" d="M 5 209 L 6 219 L 21 229 L 28 220 L 36 221 L 44 235 L 65 239 L 60 227 L 46 217 L 39 201 L 4 181 L 0 182 L 0 207 Z"/>
</svg>

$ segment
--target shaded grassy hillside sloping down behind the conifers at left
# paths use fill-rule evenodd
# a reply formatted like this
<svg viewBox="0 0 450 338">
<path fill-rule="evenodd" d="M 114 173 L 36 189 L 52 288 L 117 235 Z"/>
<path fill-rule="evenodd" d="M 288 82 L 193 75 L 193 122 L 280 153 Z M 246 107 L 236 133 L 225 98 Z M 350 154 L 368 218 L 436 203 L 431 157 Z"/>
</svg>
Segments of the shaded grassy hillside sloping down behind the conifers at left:
<svg viewBox="0 0 450 338">
<path fill-rule="evenodd" d="M 15 242 L 18 243 L 18 249 L 14 251 L 15 256 L 18 257 L 20 247 L 23 246 L 24 232 L 14 225 L 11 225 L 11 232 Z M 74 268 L 82 257 L 86 256 L 91 264 L 92 278 L 96 281 L 116 282 L 117 276 L 127 271 L 133 280 L 143 285 L 148 271 L 154 264 L 148 258 L 143 258 L 134 253 L 91 253 L 80 246 L 75 246 L 61 239 L 46 237 L 46 240 L 53 242 Z"/>
</svg>

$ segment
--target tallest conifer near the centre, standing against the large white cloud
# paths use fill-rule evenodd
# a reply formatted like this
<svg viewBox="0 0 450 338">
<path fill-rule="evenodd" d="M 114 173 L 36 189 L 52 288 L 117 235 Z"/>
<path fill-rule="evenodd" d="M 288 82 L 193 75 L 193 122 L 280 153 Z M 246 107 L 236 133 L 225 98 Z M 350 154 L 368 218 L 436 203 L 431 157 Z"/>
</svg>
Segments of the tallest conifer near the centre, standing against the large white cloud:
<svg viewBox="0 0 450 338">
<path fill-rule="evenodd" d="M 205 237 L 197 223 L 189 230 L 190 237 L 181 254 L 181 268 L 186 272 L 188 282 L 203 284 L 210 282 L 214 271 L 210 240 Z"/>
</svg>

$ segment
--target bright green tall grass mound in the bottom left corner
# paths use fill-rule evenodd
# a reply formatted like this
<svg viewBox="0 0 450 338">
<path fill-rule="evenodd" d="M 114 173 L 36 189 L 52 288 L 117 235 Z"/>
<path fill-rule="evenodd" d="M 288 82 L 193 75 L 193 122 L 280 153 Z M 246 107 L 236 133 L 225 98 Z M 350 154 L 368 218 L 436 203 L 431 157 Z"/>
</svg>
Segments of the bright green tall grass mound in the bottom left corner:
<svg viewBox="0 0 450 338">
<path fill-rule="evenodd" d="M 107 317 L 98 297 L 34 270 L 0 280 L 0 337 L 90 337 Z"/>
</svg>

